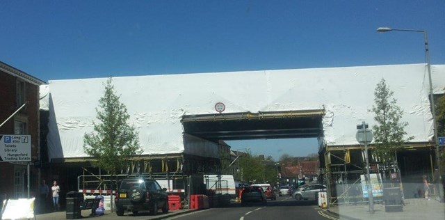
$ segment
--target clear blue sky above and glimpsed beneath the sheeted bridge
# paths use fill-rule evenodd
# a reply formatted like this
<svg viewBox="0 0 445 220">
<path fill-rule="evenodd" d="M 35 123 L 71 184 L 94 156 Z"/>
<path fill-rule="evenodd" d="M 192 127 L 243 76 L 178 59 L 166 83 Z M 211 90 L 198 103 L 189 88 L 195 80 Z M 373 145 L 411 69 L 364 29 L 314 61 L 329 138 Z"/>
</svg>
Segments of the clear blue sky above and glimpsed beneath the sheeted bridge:
<svg viewBox="0 0 445 220">
<path fill-rule="evenodd" d="M 390 26 L 427 30 L 431 63 L 444 64 L 444 11 L 443 0 L 3 0 L 0 61 L 44 81 L 426 62 L 423 35 L 375 31 Z"/>
</svg>

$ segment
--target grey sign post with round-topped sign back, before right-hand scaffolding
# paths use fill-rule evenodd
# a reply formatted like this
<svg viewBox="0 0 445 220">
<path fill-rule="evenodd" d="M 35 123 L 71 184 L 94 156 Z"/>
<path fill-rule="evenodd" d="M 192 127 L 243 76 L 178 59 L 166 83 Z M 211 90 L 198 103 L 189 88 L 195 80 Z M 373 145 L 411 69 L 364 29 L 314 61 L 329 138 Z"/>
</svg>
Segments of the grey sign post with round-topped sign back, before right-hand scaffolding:
<svg viewBox="0 0 445 220">
<path fill-rule="evenodd" d="M 373 189 L 371 185 L 371 175 L 369 175 L 369 158 L 368 158 L 368 144 L 373 141 L 373 133 L 368 129 L 368 124 L 365 122 L 362 125 L 357 125 L 357 134 L 355 138 L 360 144 L 364 145 L 364 159 L 366 160 L 366 185 L 368 188 L 368 198 L 369 198 L 369 213 L 374 213 L 374 198 Z"/>
</svg>

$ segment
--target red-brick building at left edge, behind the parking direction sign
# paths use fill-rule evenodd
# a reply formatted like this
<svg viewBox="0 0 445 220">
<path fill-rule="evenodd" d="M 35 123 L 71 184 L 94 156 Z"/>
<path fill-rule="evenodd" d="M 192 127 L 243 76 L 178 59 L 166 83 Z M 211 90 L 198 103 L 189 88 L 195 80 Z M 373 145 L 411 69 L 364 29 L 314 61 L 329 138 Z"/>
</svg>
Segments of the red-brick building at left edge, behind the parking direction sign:
<svg viewBox="0 0 445 220">
<path fill-rule="evenodd" d="M 31 135 L 30 196 L 36 194 L 40 178 L 40 170 L 34 165 L 40 161 L 39 86 L 41 84 L 45 82 L 0 62 L 0 123 L 3 124 L 0 124 L 0 134 Z M 28 162 L 0 160 L 0 196 L 26 198 Z"/>
</svg>

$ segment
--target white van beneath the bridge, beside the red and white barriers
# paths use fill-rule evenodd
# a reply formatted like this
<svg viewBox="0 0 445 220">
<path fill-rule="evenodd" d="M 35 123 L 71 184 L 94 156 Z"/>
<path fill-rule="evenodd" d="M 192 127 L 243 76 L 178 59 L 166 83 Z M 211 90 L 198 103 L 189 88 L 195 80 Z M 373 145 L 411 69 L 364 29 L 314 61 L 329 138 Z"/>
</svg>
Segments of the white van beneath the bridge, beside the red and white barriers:
<svg viewBox="0 0 445 220">
<path fill-rule="evenodd" d="M 204 184 L 216 194 L 229 194 L 231 198 L 236 198 L 233 175 L 220 175 L 220 179 L 218 175 L 204 175 Z"/>
</svg>

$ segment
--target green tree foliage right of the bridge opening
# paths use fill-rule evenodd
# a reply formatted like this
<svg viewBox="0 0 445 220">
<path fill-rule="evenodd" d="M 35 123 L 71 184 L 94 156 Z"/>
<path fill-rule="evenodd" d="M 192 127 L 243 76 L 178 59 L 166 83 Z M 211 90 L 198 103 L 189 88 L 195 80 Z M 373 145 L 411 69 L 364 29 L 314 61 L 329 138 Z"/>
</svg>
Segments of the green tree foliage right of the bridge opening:
<svg viewBox="0 0 445 220">
<path fill-rule="evenodd" d="M 376 123 L 373 125 L 376 143 L 373 152 L 382 162 L 393 162 L 396 150 L 412 137 L 404 139 L 408 123 L 401 121 L 403 111 L 397 106 L 397 100 L 393 97 L 394 92 L 389 89 L 385 79 L 377 84 L 374 95 L 374 105 L 370 110 L 375 114 Z"/>
</svg>

